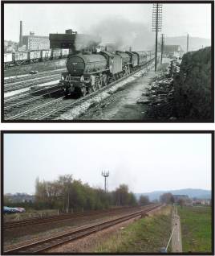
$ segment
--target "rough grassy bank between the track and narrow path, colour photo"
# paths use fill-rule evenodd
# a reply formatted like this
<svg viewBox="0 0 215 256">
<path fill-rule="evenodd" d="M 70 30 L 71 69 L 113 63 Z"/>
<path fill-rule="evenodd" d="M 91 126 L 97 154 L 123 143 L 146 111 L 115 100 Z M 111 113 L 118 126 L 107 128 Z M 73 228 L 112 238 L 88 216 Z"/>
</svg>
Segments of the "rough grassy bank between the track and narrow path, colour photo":
<svg viewBox="0 0 215 256">
<path fill-rule="evenodd" d="M 160 252 L 168 243 L 171 233 L 171 207 L 165 207 L 160 214 L 144 217 L 97 244 L 94 252 L 138 253 Z"/>
</svg>

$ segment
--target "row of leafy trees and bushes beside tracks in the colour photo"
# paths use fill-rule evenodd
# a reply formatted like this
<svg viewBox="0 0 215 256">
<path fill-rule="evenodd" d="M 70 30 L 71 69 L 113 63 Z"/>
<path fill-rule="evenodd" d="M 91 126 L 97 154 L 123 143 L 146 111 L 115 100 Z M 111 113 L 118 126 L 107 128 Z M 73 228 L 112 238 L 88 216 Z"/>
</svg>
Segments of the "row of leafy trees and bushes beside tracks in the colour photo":
<svg viewBox="0 0 215 256">
<path fill-rule="evenodd" d="M 101 188 L 91 188 L 81 180 L 73 179 L 72 175 L 61 175 L 55 181 L 36 180 L 36 209 L 59 209 L 64 213 L 75 213 L 136 204 L 136 196 L 129 192 L 126 184 L 121 184 L 112 192 L 105 192 Z"/>
</svg>

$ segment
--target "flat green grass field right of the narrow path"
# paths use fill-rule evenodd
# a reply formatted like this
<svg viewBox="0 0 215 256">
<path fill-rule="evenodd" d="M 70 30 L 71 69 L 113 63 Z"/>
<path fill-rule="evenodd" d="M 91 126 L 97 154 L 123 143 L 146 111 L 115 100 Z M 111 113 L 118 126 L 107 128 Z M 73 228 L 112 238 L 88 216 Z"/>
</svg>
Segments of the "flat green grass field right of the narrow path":
<svg viewBox="0 0 215 256">
<path fill-rule="evenodd" d="M 178 207 L 183 252 L 211 252 L 211 208 Z"/>
</svg>

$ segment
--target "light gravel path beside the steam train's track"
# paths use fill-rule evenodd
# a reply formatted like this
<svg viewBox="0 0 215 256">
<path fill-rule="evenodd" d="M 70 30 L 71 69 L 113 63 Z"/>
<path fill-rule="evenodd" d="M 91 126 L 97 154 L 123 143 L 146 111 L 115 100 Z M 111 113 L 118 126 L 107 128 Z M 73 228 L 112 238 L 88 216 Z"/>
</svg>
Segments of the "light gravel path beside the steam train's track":
<svg viewBox="0 0 215 256">
<path fill-rule="evenodd" d="M 89 109 L 79 120 L 144 120 L 144 106 L 136 103 L 156 72 L 149 71 Z"/>
</svg>

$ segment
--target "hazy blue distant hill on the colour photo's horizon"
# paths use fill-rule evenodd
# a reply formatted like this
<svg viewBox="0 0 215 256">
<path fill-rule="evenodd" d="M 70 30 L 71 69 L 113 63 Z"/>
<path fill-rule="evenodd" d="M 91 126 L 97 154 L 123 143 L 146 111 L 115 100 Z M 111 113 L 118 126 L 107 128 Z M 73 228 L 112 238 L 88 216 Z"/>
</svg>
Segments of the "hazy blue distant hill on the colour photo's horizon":
<svg viewBox="0 0 215 256">
<path fill-rule="evenodd" d="M 154 191 L 148 193 L 136 193 L 136 198 L 139 199 L 141 195 L 148 196 L 149 200 L 159 200 L 160 196 L 164 193 L 170 192 L 172 195 L 187 195 L 191 198 L 197 197 L 199 199 L 208 199 L 211 198 L 211 191 L 205 189 L 194 189 L 194 188 L 185 188 L 178 190 L 168 190 L 168 191 Z"/>
</svg>

